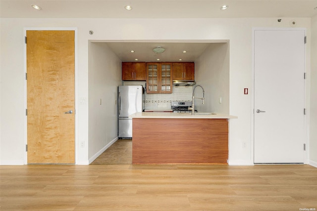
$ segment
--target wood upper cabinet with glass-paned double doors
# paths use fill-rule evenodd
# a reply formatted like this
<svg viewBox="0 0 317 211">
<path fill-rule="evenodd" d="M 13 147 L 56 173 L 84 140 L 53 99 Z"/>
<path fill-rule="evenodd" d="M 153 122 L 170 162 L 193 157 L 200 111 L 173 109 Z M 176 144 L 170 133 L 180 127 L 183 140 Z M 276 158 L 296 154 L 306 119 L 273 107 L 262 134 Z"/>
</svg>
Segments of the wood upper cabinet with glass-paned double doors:
<svg viewBox="0 0 317 211">
<path fill-rule="evenodd" d="M 172 63 L 147 63 L 147 93 L 172 93 Z"/>
</svg>

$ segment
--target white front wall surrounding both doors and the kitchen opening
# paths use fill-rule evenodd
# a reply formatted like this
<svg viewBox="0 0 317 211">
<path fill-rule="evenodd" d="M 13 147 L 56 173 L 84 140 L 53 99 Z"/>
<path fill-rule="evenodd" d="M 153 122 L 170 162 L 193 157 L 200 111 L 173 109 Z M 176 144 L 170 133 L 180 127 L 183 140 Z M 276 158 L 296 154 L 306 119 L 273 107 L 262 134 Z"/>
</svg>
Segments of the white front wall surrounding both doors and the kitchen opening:
<svg viewBox="0 0 317 211">
<path fill-rule="evenodd" d="M 230 121 L 229 163 L 252 164 L 251 149 L 251 91 L 243 94 L 243 88 L 251 87 L 252 27 L 289 27 L 291 19 L 296 27 L 308 29 L 311 40 L 310 18 L 226 18 L 226 19 L 16 19 L 2 18 L 0 25 L 0 162 L 1 164 L 23 164 L 25 142 L 24 116 L 24 27 L 77 27 L 78 28 L 78 75 L 77 100 L 89 101 L 88 45 L 89 40 L 229 40 L 229 114 L 238 116 Z M 316 21 L 315 21 L 316 23 Z M 177 27 L 175 27 L 177 26 Z M 93 35 L 89 31 L 94 31 Z M 164 31 L 164 33 L 161 33 Z M 316 35 L 316 34 L 315 34 Z M 307 55 L 311 46 L 307 44 Z M 306 63 L 310 75 L 310 57 Z M 312 82 L 313 84 L 314 82 Z M 316 81 L 315 81 L 316 83 Z M 307 90 L 308 92 L 310 90 Z M 90 101 L 89 101 L 90 102 Z M 89 140 L 88 104 L 78 105 L 76 118 L 78 142 Z M 308 103 L 310 103 L 308 99 Z M 313 117 L 314 118 L 314 117 Z M 311 118 L 311 119 L 313 119 Z M 313 120 L 311 120 L 313 121 Z M 315 117 L 316 121 L 316 117 Z M 308 124 L 309 125 L 309 124 Z M 316 135 L 315 135 L 316 137 Z M 242 141 L 247 143 L 242 148 Z M 79 144 L 77 142 L 77 144 Z M 77 164 L 87 164 L 88 146 L 79 148 Z M 95 150 L 93 150 L 95 151 Z M 93 152 L 91 152 L 93 154 Z M 316 154 L 312 149 L 311 154 Z"/>
</svg>

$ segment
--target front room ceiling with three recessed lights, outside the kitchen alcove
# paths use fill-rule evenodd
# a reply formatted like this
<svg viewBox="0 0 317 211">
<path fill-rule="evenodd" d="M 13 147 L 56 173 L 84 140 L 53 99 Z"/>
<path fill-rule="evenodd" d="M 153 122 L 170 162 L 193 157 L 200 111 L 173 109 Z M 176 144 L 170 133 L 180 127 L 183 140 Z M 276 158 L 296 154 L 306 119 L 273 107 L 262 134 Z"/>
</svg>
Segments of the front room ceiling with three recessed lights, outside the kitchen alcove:
<svg viewBox="0 0 317 211">
<path fill-rule="evenodd" d="M 42 9 L 35 10 L 31 4 Z M 132 10 L 124 9 L 131 5 Z M 220 10 L 223 4 L 229 6 Z M 1 18 L 312 17 L 317 0 L 0 0 Z"/>
</svg>

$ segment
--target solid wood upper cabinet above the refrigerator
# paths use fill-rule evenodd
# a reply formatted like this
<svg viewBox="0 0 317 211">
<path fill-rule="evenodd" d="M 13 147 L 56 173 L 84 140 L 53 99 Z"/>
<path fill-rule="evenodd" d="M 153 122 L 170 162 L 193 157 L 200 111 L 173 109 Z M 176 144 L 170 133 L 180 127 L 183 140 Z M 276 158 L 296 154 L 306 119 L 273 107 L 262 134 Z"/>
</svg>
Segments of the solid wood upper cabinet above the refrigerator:
<svg viewBox="0 0 317 211">
<path fill-rule="evenodd" d="M 145 81 L 145 62 L 122 62 L 122 81 Z"/>
</svg>

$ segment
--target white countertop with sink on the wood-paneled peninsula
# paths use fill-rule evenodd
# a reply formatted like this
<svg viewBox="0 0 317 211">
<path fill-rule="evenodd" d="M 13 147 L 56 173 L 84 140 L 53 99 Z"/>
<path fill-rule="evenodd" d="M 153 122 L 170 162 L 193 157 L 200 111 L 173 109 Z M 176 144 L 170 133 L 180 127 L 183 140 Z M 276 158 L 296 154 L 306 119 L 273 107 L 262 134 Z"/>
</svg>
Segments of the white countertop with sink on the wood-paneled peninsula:
<svg viewBox="0 0 317 211">
<path fill-rule="evenodd" d="M 173 113 L 173 112 L 138 112 L 130 115 L 131 118 L 149 118 L 149 119 L 237 119 L 236 116 L 227 114 L 195 114 L 191 113 Z"/>
</svg>

